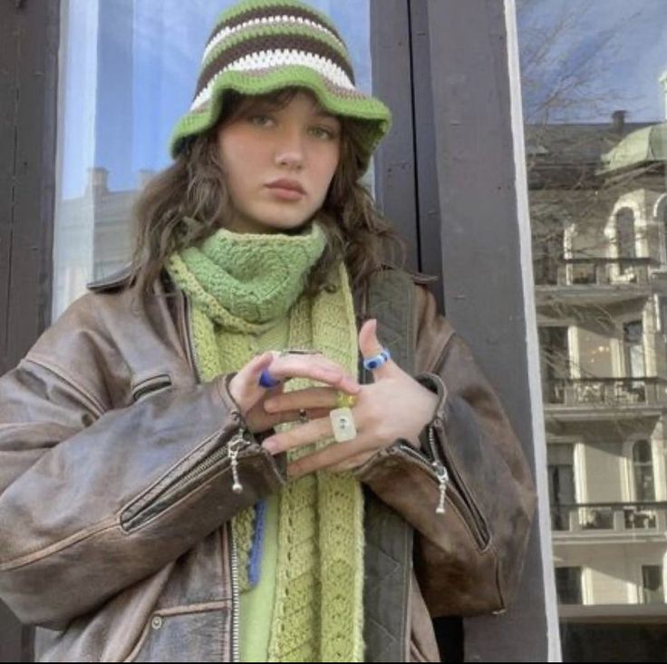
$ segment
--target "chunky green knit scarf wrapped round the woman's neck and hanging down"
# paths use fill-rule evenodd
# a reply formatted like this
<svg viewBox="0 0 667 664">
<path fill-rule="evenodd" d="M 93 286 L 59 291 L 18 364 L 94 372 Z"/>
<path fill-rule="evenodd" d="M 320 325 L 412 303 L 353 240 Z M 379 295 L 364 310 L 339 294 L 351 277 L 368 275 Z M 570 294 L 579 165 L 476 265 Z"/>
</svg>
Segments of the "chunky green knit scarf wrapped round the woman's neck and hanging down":
<svg viewBox="0 0 667 664">
<path fill-rule="evenodd" d="M 325 243 L 316 221 L 298 235 L 218 229 L 200 247 L 169 257 L 171 277 L 192 302 L 203 380 L 246 364 L 253 355 L 248 336 L 266 334 L 285 318 L 287 347 L 316 348 L 356 375 L 357 331 L 344 264 L 335 270 L 332 292 L 314 298 L 302 292 Z M 295 378 L 285 391 L 314 385 L 321 384 Z M 333 437 L 321 439 L 289 458 L 331 443 Z M 232 522 L 239 570 L 247 569 L 254 516 L 251 508 Z M 352 474 L 321 471 L 285 484 L 277 557 L 269 661 L 362 661 L 363 496 Z"/>
</svg>

